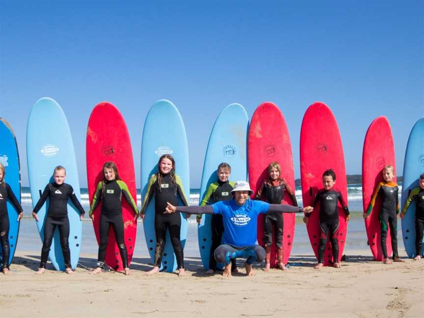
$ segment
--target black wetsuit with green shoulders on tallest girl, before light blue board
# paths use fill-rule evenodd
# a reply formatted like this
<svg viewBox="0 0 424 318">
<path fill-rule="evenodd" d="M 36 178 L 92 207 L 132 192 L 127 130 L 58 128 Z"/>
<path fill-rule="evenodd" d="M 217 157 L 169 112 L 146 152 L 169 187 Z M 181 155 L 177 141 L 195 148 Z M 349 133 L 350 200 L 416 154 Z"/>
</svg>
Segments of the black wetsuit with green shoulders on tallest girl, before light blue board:
<svg viewBox="0 0 424 318">
<path fill-rule="evenodd" d="M 174 253 L 177 258 L 178 268 L 184 268 L 184 252 L 181 245 L 181 214 L 166 213 L 167 202 L 174 206 L 178 206 L 178 196 L 185 206 L 188 206 L 184 195 L 182 182 L 180 177 L 175 175 L 176 183 L 172 182 L 170 174 L 162 176 L 161 183 L 158 182 L 158 176 L 154 174 L 148 184 L 148 189 L 143 200 L 141 213 L 144 213 L 150 200 L 155 194 L 155 234 L 156 234 L 156 250 L 155 250 L 155 266 L 160 267 L 162 262 L 163 249 L 165 246 L 166 228 L 168 228 L 171 237 Z"/>
</svg>

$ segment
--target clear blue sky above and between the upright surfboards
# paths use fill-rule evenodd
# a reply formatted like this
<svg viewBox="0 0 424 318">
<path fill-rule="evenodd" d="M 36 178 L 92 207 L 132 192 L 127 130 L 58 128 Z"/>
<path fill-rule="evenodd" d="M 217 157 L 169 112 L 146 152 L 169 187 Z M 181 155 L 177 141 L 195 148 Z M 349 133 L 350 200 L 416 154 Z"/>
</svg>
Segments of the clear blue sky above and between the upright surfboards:
<svg viewBox="0 0 424 318">
<path fill-rule="evenodd" d="M 401 174 L 409 132 L 424 115 L 423 1 L 127 2 L 0 2 L 0 116 L 15 129 L 23 185 L 27 119 L 45 96 L 67 115 L 82 186 L 86 126 L 102 101 L 127 121 L 138 187 L 143 124 L 159 99 L 185 121 L 191 187 L 213 122 L 231 103 L 249 116 L 265 101 L 280 107 L 296 178 L 313 102 L 333 110 L 349 174 L 361 173 L 367 128 L 385 115 Z"/>
</svg>

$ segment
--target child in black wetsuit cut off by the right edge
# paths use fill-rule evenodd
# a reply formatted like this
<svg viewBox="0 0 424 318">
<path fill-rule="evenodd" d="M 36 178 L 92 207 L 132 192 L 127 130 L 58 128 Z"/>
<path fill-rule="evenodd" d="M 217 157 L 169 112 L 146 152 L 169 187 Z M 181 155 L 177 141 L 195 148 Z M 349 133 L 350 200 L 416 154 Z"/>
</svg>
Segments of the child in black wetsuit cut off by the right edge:
<svg viewBox="0 0 424 318">
<path fill-rule="evenodd" d="M 414 260 L 418 261 L 423 257 L 423 232 L 424 232 L 424 173 L 420 176 L 420 186 L 415 188 L 409 194 L 408 199 L 403 206 L 400 218 L 405 217 L 406 211 L 412 201 L 415 200 L 416 211 L 415 211 L 415 257 Z"/>
</svg>

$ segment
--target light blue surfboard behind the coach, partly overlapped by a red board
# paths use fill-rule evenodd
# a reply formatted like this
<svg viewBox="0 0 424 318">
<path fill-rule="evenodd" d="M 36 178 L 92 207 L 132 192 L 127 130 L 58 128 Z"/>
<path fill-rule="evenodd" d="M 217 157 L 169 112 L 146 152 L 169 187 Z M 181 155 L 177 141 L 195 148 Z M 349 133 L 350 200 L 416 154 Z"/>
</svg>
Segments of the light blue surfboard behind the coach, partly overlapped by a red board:
<svg viewBox="0 0 424 318">
<path fill-rule="evenodd" d="M 209 185 L 218 180 L 216 168 L 221 162 L 227 162 L 231 166 L 230 181 L 247 181 L 246 142 L 248 128 L 249 117 L 240 104 L 228 105 L 216 118 L 209 137 L 203 165 L 199 205 Z M 212 244 L 211 221 L 212 215 L 202 214 L 202 221 L 197 228 L 200 256 L 205 269 L 209 269 L 209 255 Z M 218 265 L 218 267 L 222 267 L 222 265 Z"/>
</svg>

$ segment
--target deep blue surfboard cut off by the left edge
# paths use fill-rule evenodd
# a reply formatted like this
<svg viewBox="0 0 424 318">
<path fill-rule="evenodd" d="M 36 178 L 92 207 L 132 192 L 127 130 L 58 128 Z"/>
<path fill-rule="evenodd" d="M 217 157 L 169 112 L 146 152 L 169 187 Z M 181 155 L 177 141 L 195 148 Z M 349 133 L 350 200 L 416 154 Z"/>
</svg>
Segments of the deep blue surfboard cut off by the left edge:
<svg viewBox="0 0 424 318">
<path fill-rule="evenodd" d="M 15 134 L 12 127 L 4 119 L 0 118 L 0 162 L 5 168 L 4 181 L 10 185 L 13 193 L 21 203 L 21 167 L 19 163 L 18 145 L 16 144 Z M 18 242 L 19 223 L 18 211 L 15 206 L 7 200 L 7 213 L 9 214 L 9 246 L 10 256 L 9 265 L 12 263 L 15 254 L 16 244 Z M 0 248 L 0 262 L 3 260 Z"/>
</svg>

